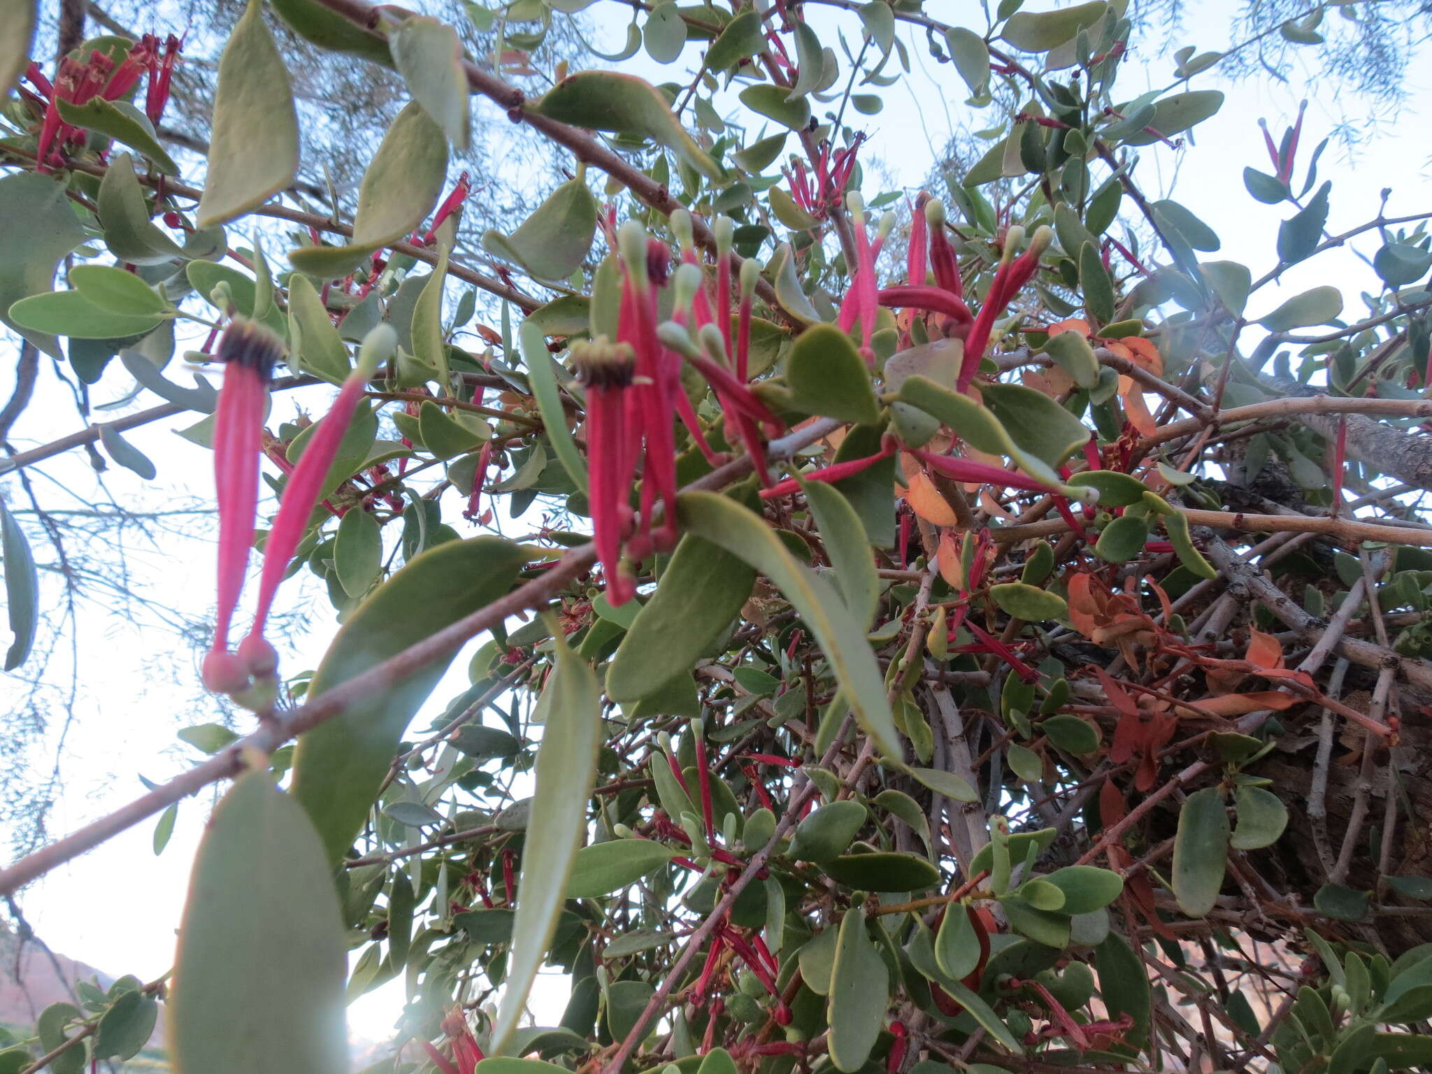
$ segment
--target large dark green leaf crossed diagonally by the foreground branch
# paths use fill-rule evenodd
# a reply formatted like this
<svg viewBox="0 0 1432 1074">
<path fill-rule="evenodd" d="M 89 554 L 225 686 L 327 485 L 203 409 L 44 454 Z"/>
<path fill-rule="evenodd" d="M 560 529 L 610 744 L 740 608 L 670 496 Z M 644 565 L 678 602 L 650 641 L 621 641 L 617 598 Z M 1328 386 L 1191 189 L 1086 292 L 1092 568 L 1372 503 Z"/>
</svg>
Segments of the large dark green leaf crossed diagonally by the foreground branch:
<svg viewBox="0 0 1432 1074">
<path fill-rule="evenodd" d="M 498 537 L 448 541 L 414 558 L 344 623 L 308 695 L 365 672 L 507 591 L 526 553 Z M 454 650 L 455 652 L 455 650 Z M 331 861 L 358 835 L 408 720 L 453 652 L 305 733 L 294 753 L 294 796 Z"/>
</svg>

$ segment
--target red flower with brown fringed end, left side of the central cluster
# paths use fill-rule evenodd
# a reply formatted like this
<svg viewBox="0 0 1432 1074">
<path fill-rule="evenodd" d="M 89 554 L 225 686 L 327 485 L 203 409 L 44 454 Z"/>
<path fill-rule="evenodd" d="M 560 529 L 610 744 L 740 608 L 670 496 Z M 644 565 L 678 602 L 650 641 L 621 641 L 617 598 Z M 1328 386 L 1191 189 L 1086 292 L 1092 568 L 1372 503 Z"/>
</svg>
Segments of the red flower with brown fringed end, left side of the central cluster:
<svg viewBox="0 0 1432 1074">
<path fill-rule="evenodd" d="M 636 355 L 626 344 L 604 338 L 574 344 L 571 361 L 577 379 L 587 390 L 587 470 L 590 471 L 591 536 L 607 579 L 607 600 L 613 607 L 629 601 L 634 586 L 621 573 L 621 534 L 630 505 L 627 488 L 632 465 L 626 450 L 626 395 L 636 372 Z"/>
</svg>

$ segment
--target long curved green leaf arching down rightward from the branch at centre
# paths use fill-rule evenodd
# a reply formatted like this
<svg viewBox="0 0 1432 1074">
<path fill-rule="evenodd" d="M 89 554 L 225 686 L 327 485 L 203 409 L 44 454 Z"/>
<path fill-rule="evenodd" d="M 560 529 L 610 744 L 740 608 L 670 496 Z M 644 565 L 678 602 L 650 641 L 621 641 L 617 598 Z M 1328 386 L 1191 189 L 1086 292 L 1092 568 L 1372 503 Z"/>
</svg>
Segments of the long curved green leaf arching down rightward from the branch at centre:
<svg viewBox="0 0 1432 1074">
<path fill-rule="evenodd" d="M 740 556 L 776 583 L 815 633 L 856 722 L 885 755 L 898 759 L 902 753 L 899 732 L 875 654 L 843 601 L 833 607 L 832 590 L 818 586 L 809 569 L 796 563 L 775 531 L 740 504 L 715 493 L 686 493 L 677 501 L 677 513 L 683 528 Z"/>
</svg>

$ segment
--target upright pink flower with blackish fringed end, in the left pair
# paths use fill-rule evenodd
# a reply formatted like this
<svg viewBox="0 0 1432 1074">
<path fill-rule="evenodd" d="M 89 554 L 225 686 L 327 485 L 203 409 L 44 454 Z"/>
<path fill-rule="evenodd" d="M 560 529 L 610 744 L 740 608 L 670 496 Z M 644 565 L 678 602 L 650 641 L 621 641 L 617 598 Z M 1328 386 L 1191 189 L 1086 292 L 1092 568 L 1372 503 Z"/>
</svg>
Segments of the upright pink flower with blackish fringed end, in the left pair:
<svg viewBox="0 0 1432 1074">
<path fill-rule="evenodd" d="M 258 507 L 263 407 L 282 344 L 252 321 L 235 319 L 219 339 L 223 388 L 213 414 L 213 484 L 219 505 L 218 613 L 213 644 L 203 659 L 203 683 L 232 693 L 248 684 L 243 663 L 229 652 L 229 624 L 243 591 Z"/>
</svg>

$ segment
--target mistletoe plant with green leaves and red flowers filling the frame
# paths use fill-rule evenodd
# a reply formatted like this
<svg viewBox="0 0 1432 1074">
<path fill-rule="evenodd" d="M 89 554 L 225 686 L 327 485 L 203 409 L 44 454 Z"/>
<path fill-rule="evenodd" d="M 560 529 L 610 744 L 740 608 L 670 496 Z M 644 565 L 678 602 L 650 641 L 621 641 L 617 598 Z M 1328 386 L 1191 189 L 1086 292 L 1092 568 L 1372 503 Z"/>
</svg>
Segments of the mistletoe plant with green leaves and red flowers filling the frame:
<svg viewBox="0 0 1432 1074">
<path fill-rule="evenodd" d="M 1243 173 L 1270 266 L 1207 256 L 1138 163 L 1219 110 L 1190 80 L 1223 56 L 1126 96 L 1123 3 L 621 7 L 606 59 L 686 64 L 660 86 L 543 70 L 589 7 L 468 4 L 470 54 L 249 0 L 200 159 L 160 127 L 179 37 L 52 66 L 6 6 L 0 318 L 162 400 L 6 467 L 153 478 L 123 434 L 195 412 L 200 674 L 252 725 L 0 874 L 156 815 L 162 846 L 232 780 L 172 975 L 84 985 L 0 1070 L 127 1058 L 163 1005 L 186 1074 L 341 1071 L 345 998 L 394 979 L 372 1071 L 1432 1067 L 1432 213 L 1329 233 L 1300 115 Z M 295 186 L 278 21 L 411 95 L 352 212 Z M 906 39 L 990 146 L 875 192 L 855 90 Z M 510 233 L 460 226 L 474 97 L 571 158 Z M 1273 296 L 1363 239 L 1365 311 Z M 11 670 L 47 591 L 0 521 Z M 266 636 L 285 586 L 341 621 L 314 672 Z M 544 965 L 570 1000 L 528 1012 Z"/>
</svg>

